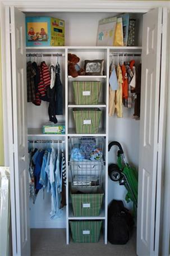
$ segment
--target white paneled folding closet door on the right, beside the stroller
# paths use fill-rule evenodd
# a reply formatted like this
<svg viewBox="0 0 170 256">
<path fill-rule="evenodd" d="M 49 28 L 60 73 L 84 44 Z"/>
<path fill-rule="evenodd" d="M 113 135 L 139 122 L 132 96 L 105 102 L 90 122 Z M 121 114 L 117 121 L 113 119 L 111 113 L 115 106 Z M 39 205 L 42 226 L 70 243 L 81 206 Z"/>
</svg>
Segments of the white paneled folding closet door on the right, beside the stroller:
<svg viewBox="0 0 170 256">
<path fill-rule="evenodd" d="M 158 255 L 160 188 L 157 187 L 158 126 L 160 93 L 160 53 L 162 43 L 162 8 L 143 16 L 143 54 L 141 72 L 141 121 L 139 153 L 139 195 L 137 208 L 137 255 Z M 160 141 L 162 143 L 162 141 Z M 159 189 L 158 189 L 159 188 Z M 158 237 L 158 239 L 157 239 Z M 155 243 L 157 241 L 157 243 Z"/>
</svg>

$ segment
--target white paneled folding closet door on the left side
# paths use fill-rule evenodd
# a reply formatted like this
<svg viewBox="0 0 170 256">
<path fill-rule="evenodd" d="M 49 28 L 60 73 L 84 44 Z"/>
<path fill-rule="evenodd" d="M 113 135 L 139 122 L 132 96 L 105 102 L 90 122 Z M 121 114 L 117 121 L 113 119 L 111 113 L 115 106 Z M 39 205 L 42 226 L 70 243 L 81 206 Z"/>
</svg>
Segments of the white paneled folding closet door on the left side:
<svg viewBox="0 0 170 256">
<path fill-rule="evenodd" d="M 26 256 L 30 255 L 30 229 L 26 128 L 25 15 L 15 7 L 11 7 L 11 51 L 17 255 Z"/>
</svg>

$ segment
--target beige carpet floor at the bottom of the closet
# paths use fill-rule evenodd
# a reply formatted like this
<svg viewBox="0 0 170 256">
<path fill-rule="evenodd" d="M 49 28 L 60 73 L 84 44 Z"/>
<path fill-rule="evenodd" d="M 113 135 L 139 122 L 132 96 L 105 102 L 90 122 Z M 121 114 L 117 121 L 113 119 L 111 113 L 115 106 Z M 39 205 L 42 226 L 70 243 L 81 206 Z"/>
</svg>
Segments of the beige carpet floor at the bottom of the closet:
<svg viewBox="0 0 170 256">
<path fill-rule="evenodd" d="M 126 245 L 112 245 L 103 243 L 76 244 L 70 241 L 66 245 L 65 229 L 31 229 L 32 256 L 134 256 L 136 255 L 136 232 Z"/>
</svg>

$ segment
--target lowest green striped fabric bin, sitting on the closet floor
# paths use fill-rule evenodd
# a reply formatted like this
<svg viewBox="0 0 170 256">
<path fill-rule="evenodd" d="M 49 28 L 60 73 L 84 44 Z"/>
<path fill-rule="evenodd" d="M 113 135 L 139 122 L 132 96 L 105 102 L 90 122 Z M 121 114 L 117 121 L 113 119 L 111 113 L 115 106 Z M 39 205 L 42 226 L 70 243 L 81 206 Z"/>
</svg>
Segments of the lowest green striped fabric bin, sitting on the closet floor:
<svg viewBox="0 0 170 256">
<path fill-rule="evenodd" d="M 72 240 L 75 243 L 97 243 L 102 221 L 70 221 Z"/>
</svg>

